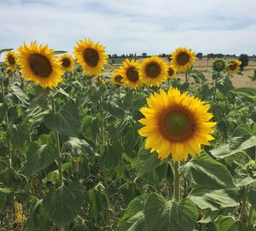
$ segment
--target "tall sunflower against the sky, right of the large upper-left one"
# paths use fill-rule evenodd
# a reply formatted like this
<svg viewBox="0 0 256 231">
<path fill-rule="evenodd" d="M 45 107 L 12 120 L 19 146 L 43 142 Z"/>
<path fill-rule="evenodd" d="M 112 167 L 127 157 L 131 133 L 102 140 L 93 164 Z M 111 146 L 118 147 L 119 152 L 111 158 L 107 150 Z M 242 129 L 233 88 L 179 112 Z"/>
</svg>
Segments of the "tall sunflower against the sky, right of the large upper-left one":
<svg viewBox="0 0 256 231">
<path fill-rule="evenodd" d="M 90 39 L 80 40 L 74 48 L 73 54 L 79 64 L 84 67 L 85 75 L 98 76 L 104 70 L 104 64 L 108 61 L 105 47 L 100 43 L 93 43 Z"/>
</svg>

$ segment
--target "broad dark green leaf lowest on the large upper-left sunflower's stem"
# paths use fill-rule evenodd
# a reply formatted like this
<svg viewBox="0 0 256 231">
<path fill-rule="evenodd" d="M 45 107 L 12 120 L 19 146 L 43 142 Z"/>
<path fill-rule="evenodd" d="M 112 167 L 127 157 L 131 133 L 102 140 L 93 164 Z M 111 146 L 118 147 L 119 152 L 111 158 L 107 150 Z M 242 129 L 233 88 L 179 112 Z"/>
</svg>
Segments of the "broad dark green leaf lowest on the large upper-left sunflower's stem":
<svg viewBox="0 0 256 231">
<path fill-rule="evenodd" d="M 47 217 L 61 227 L 77 217 L 83 203 L 84 189 L 75 183 L 52 188 L 43 200 Z"/>
</svg>

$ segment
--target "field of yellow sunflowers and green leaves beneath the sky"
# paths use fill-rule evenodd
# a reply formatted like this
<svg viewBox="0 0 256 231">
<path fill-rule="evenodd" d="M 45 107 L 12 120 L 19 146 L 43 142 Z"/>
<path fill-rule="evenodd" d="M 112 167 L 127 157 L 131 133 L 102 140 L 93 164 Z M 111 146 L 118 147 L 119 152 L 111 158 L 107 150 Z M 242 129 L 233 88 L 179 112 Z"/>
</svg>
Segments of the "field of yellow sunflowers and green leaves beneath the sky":
<svg viewBox="0 0 256 231">
<path fill-rule="evenodd" d="M 0 50 L 0 230 L 256 230 L 256 71 L 105 49 Z"/>
</svg>

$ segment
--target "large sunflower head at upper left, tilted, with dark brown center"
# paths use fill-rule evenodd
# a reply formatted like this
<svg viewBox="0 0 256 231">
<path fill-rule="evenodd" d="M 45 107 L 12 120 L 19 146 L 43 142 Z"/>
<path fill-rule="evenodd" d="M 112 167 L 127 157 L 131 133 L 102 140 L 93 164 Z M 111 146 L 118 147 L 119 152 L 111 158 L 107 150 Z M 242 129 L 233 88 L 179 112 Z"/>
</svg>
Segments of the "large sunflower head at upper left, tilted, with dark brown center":
<svg viewBox="0 0 256 231">
<path fill-rule="evenodd" d="M 37 42 L 30 45 L 24 43 L 20 46 L 18 57 L 20 72 L 27 81 L 50 89 L 61 82 L 61 65 L 48 45 L 38 45 Z"/>
</svg>

